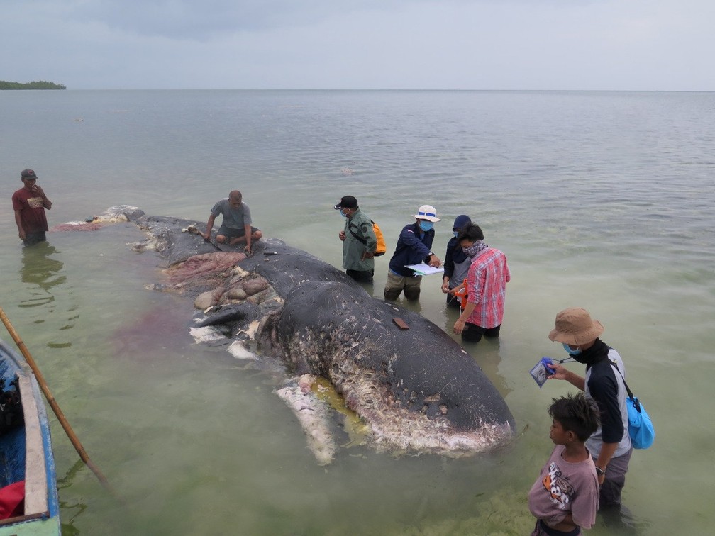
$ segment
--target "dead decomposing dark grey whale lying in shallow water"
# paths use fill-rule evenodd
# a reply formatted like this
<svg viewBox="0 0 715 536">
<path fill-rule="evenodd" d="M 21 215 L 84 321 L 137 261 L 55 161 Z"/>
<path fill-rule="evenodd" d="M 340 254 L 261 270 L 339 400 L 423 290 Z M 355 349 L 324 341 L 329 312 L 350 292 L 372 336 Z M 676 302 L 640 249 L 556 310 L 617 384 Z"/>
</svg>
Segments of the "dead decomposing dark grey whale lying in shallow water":
<svg viewBox="0 0 715 536">
<path fill-rule="evenodd" d="M 204 310 L 197 324 L 220 324 L 244 349 L 280 360 L 309 437 L 325 423 L 301 418 L 310 412 L 301 389 L 316 397 L 305 382 L 298 387 L 299 377 L 327 379 L 378 452 L 458 457 L 512 440 L 515 422 L 501 394 L 460 344 L 420 314 L 371 297 L 344 272 L 280 240 L 261 239 L 247 256 L 204 242 L 191 232 L 196 222 L 136 207 L 108 214 L 117 212 L 147 233 L 135 249 L 164 259 L 169 284 L 161 288 L 197 300 Z"/>
</svg>

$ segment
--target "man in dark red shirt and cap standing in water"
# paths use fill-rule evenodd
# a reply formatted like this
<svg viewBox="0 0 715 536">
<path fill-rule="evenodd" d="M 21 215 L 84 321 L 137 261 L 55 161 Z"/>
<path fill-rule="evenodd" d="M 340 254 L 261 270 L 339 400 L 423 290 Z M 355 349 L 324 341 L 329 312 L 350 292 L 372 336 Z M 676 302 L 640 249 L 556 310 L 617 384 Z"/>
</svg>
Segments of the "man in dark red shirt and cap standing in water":
<svg viewBox="0 0 715 536">
<path fill-rule="evenodd" d="M 46 242 L 47 217 L 45 209 L 52 208 L 43 189 L 37 184 L 37 175 L 32 169 L 20 172 L 22 188 L 12 194 L 12 208 L 18 236 L 26 246 Z"/>
</svg>

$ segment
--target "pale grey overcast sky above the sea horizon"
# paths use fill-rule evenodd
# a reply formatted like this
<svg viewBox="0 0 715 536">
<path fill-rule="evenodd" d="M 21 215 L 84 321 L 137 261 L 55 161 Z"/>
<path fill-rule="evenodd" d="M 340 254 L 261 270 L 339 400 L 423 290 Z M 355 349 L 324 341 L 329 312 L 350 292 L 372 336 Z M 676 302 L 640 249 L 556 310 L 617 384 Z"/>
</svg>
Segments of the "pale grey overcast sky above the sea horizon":
<svg viewBox="0 0 715 536">
<path fill-rule="evenodd" d="M 715 0 L 0 0 L 68 89 L 715 91 Z"/>
</svg>

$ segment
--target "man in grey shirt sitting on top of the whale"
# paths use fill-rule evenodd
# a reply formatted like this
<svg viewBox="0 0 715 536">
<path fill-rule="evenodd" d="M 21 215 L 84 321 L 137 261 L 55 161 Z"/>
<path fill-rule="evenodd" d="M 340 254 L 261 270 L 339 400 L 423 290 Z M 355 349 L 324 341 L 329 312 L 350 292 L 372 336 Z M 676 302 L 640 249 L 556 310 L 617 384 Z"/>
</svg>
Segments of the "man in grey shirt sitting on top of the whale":
<svg viewBox="0 0 715 536">
<path fill-rule="evenodd" d="M 211 238 L 211 231 L 214 228 L 216 217 L 222 214 L 223 221 L 216 234 L 216 242 L 233 246 L 245 242 L 244 249 L 251 252 L 251 245 L 257 242 L 263 233 L 256 227 L 252 227 L 251 210 L 243 202 L 243 196 L 238 190 L 228 194 L 227 199 L 221 199 L 211 209 L 209 221 L 206 224 L 206 233 L 202 234 L 204 239 Z"/>
</svg>

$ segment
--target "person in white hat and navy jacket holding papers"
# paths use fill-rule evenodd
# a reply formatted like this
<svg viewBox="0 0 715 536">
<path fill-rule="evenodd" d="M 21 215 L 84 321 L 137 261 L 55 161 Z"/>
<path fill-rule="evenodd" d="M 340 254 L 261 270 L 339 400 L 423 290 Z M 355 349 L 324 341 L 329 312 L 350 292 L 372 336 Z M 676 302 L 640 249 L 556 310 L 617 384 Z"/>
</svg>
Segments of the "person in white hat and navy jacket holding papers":
<svg viewBox="0 0 715 536">
<path fill-rule="evenodd" d="M 433 227 L 441 221 L 437 217 L 437 210 L 430 204 L 423 204 L 413 217 L 415 223 L 403 227 L 393 258 L 390 259 L 388 282 L 385 284 L 385 299 L 390 301 L 398 299 L 403 291 L 405 298 L 411 301 L 420 298 L 422 277 L 415 277 L 415 271 L 406 268 L 406 264 L 420 264 L 424 261 L 435 268 L 442 264 L 432 252 L 432 241 L 435 238 Z"/>
</svg>

